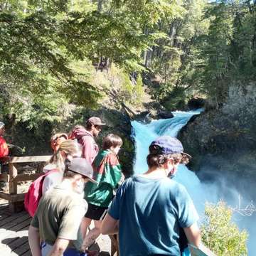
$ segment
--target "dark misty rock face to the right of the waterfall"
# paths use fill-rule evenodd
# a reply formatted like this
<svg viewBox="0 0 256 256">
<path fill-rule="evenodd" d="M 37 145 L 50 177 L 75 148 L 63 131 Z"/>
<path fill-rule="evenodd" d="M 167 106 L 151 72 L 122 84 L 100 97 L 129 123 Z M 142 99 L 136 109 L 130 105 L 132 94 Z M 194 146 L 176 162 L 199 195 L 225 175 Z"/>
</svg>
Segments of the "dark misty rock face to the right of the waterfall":
<svg viewBox="0 0 256 256">
<path fill-rule="evenodd" d="M 219 110 L 203 112 L 178 138 L 204 179 L 223 173 L 256 181 L 256 86 L 233 85 Z M 233 175 L 234 174 L 234 175 Z"/>
</svg>

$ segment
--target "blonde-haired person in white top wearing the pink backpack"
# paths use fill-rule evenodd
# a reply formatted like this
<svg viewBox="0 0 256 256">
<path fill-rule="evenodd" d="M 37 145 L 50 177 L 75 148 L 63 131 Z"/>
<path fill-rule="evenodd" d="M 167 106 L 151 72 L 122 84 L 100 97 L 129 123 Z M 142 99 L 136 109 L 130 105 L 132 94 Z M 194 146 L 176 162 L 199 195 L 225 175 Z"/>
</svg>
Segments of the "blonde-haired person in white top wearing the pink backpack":
<svg viewBox="0 0 256 256">
<path fill-rule="evenodd" d="M 74 157 L 80 157 L 81 154 L 82 149 L 78 142 L 67 139 L 60 143 L 58 150 L 55 151 L 49 161 L 49 164 L 53 166 L 53 169 L 48 170 L 51 171 L 51 173 L 48 174 L 43 181 L 43 194 L 63 180 L 65 162 L 71 161 Z"/>
</svg>

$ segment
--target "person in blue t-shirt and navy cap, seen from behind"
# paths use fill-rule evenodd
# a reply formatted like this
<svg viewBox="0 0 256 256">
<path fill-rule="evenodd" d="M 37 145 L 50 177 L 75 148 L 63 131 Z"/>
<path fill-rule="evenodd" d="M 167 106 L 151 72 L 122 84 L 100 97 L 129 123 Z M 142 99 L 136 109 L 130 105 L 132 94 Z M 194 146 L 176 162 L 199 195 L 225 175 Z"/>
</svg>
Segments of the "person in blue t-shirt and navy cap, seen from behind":
<svg viewBox="0 0 256 256">
<path fill-rule="evenodd" d="M 171 176 L 191 156 L 178 139 L 162 136 L 149 146 L 148 171 L 128 178 L 102 222 L 102 234 L 119 233 L 121 256 L 181 255 L 181 228 L 201 245 L 198 214 L 186 188 Z"/>
</svg>

